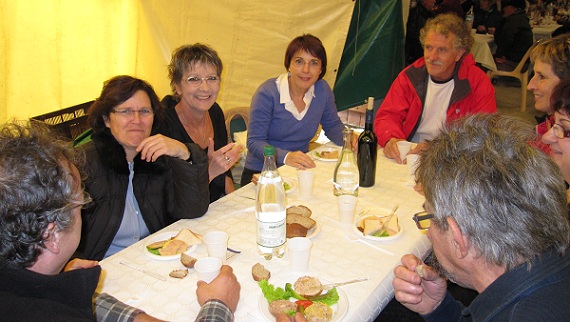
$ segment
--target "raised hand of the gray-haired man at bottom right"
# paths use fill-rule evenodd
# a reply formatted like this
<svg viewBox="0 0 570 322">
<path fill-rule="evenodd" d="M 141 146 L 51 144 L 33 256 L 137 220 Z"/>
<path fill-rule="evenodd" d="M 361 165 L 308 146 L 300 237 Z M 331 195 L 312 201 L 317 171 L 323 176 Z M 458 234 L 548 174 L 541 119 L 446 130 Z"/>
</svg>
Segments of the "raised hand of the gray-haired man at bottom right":
<svg viewBox="0 0 570 322">
<path fill-rule="evenodd" d="M 416 267 L 422 261 L 414 255 L 402 257 L 402 265 L 394 269 L 394 296 L 408 309 L 419 314 L 433 312 L 447 292 L 447 281 L 431 267 L 423 264 L 422 277 Z"/>
</svg>

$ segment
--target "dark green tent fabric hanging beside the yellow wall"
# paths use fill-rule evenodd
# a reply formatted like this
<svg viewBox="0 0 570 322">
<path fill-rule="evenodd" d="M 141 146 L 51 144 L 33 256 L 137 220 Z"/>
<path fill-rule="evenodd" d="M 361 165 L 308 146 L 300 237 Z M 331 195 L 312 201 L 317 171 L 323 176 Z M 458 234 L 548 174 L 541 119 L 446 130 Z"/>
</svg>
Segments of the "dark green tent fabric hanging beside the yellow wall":
<svg viewBox="0 0 570 322">
<path fill-rule="evenodd" d="M 404 68 L 401 0 L 357 0 L 334 85 L 339 111 L 383 99 Z"/>
</svg>

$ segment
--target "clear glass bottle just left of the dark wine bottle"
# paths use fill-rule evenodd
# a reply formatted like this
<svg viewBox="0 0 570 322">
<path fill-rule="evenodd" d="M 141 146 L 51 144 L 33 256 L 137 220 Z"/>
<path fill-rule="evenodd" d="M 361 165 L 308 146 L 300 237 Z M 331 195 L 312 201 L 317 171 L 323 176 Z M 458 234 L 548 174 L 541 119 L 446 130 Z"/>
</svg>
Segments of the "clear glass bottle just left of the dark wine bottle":
<svg viewBox="0 0 570 322">
<path fill-rule="evenodd" d="M 356 156 L 350 147 L 352 130 L 345 128 L 342 131 L 344 144 L 340 157 L 336 163 L 333 176 L 333 189 L 335 196 L 354 195 L 358 196 L 358 166 Z"/>
</svg>

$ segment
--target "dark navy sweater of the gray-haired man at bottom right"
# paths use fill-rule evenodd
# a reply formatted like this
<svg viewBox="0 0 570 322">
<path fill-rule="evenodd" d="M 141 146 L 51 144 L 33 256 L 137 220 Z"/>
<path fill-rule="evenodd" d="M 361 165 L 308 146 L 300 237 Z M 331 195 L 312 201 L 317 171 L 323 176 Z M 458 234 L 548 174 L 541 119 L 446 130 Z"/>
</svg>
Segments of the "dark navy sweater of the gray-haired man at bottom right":
<svg viewBox="0 0 570 322">
<path fill-rule="evenodd" d="M 426 321 L 570 320 L 570 252 L 544 253 L 530 267 L 523 264 L 497 278 L 468 308 L 448 293 Z"/>
</svg>

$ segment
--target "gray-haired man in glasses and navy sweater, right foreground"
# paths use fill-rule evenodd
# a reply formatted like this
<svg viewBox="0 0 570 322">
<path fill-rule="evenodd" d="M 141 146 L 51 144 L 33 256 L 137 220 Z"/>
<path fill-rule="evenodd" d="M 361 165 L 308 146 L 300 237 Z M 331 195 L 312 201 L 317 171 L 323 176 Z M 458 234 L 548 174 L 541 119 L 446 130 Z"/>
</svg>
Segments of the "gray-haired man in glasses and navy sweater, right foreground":
<svg viewBox="0 0 570 322">
<path fill-rule="evenodd" d="M 423 186 L 432 266 L 394 270 L 395 297 L 426 321 L 568 321 L 570 227 L 565 186 L 514 116 L 472 115 L 430 142 Z M 446 279 L 479 295 L 465 308 Z"/>
</svg>

